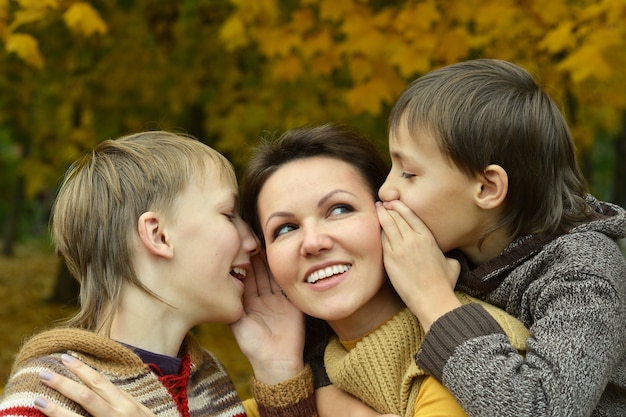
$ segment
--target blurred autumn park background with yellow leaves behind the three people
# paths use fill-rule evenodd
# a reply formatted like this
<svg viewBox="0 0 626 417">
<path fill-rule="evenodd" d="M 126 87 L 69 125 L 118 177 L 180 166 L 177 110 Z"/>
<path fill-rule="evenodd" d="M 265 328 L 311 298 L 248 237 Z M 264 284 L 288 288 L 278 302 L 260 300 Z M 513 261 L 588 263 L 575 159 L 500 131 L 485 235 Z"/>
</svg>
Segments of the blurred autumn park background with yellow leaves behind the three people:
<svg viewBox="0 0 626 417">
<path fill-rule="evenodd" d="M 338 121 L 385 150 L 411 80 L 499 58 L 554 97 L 590 190 L 624 207 L 624 22 L 624 0 L 0 0 L 0 387 L 23 338 L 74 311 L 47 222 L 98 142 L 186 132 L 241 172 L 259 137 Z M 228 329 L 198 334 L 247 394 Z"/>
</svg>

